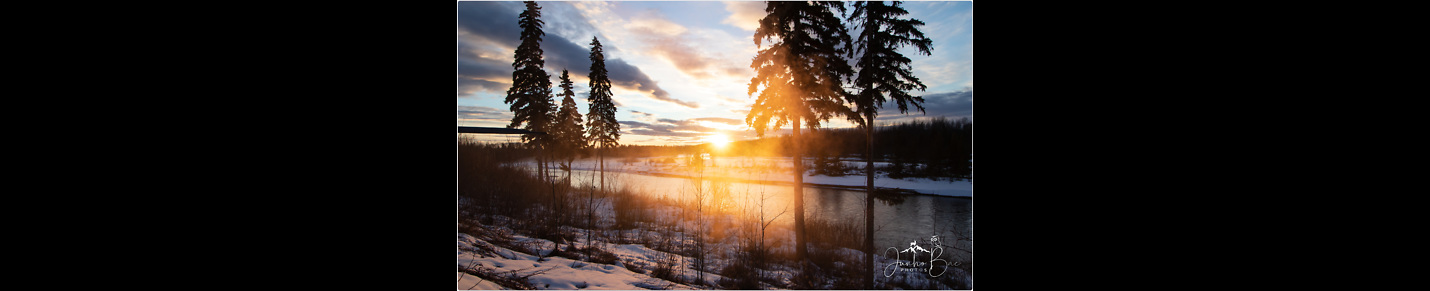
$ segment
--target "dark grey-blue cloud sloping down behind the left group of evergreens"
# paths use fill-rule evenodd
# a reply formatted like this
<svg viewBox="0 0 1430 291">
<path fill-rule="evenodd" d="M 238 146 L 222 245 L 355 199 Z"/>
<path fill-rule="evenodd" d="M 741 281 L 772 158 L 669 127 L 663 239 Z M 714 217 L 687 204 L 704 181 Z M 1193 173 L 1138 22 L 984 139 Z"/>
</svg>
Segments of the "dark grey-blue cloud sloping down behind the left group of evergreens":
<svg viewBox="0 0 1430 291">
<path fill-rule="evenodd" d="M 555 17 L 558 14 L 581 14 L 571 13 L 575 9 L 569 6 L 569 3 L 542 3 L 542 20 L 546 23 L 542 27 L 546 32 L 542 36 L 542 57 L 546 60 L 546 70 L 555 72 L 553 80 L 555 76 L 561 76 L 562 69 L 569 70 L 572 76 L 591 75 L 591 47 L 561 36 L 592 30 L 583 27 L 589 26 L 589 20 L 585 17 L 578 20 Z M 521 3 L 458 3 L 458 96 L 490 90 L 502 85 L 511 86 L 511 56 L 521 44 L 521 27 L 516 24 L 516 19 L 522 9 L 525 7 Z M 589 43 L 589 40 L 581 43 Z M 616 50 L 609 40 L 602 42 L 602 46 L 608 52 L 608 57 L 609 52 Z M 606 72 L 615 86 L 649 95 L 656 100 L 699 108 L 699 103 L 671 97 L 671 93 L 661 89 L 651 76 L 622 59 L 606 59 Z M 496 92 L 505 90 L 506 87 L 500 87 Z"/>
</svg>

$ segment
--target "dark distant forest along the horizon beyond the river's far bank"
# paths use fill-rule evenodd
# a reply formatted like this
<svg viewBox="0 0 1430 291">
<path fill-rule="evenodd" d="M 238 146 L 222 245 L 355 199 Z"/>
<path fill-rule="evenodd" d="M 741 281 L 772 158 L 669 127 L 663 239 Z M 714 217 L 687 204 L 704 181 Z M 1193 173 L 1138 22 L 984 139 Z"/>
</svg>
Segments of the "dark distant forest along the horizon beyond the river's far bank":
<svg viewBox="0 0 1430 291">
<path fill-rule="evenodd" d="M 907 123 L 885 125 L 874 128 L 874 162 L 888 162 L 887 166 L 875 166 L 875 171 L 888 173 L 889 178 L 948 178 L 972 179 L 972 120 L 962 119 L 925 119 Z M 845 163 L 865 159 L 867 140 L 864 129 L 818 129 L 807 130 L 805 158 L 812 159 L 807 169 L 811 173 L 842 176 L 864 175 L 862 163 Z M 764 139 L 731 142 L 725 156 L 791 156 L 792 139 L 785 136 L 768 136 Z M 512 162 L 519 158 L 533 156 L 531 149 L 522 145 L 505 143 L 490 145 L 489 151 L 508 152 L 503 156 Z M 714 152 L 709 145 L 691 146 L 642 146 L 621 145 L 606 149 L 608 158 L 642 158 L 642 156 L 674 156 L 686 153 Z M 588 152 L 585 156 L 595 156 Z M 845 162 L 839 162 L 845 161 Z"/>
</svg>

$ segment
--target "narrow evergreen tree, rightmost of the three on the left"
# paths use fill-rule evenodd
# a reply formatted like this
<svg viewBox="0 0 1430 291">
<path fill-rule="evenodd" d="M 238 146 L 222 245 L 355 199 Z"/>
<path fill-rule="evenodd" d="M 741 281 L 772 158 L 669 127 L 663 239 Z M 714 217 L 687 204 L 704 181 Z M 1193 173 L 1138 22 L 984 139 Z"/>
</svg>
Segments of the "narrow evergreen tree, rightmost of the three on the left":
<svg viewBox="0 0 1430 291">
<path fill-rule="evenodd" d="M 621 145 L 621 123 L 616 123 L 616 106 L 611 103 L 611 77 L 606 76 L 606 56 L 601 40 L 591 37 L 591 109 L 586 110 L 586 135 L 601 161 L 601 191 L 606 189 L 605 149 Z"/>
</svg>

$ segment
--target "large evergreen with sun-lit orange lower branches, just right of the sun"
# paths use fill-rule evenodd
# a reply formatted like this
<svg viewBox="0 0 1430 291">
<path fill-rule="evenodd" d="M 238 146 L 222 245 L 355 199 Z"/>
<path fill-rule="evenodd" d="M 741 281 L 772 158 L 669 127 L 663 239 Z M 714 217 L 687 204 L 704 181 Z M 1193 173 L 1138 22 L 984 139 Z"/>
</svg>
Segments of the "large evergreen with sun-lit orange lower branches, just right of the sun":
<svg viewBox="0 0 1430 291">
<path fill-rule="evenodd" d="M 809 251 L 805 235 L 799 128 L 807 125 L 814 129 L 834 115 L 861 120 L 844 105 L 847 95 L 844 79 L 854 75 L 854 69 L 845 62 L 849 33 L 835 10 L 842 14 L 844 3 L 768 1 L 765 6 L 768 14 L 759 20 L 759 29 L 755 30 L 755 46 L 762 46 L 765 40 L 774 42 L 759 50 L 749 65 L 756 76 L 749 79 L 748 95 L 759 92 L 759 97 L 745 122 L 759 136 L 765 135 L 771 120 L 774 129 L 794 125 L 795 255 L 801 269 L 807 265 Z M 797 284 L 809 287 L 808 280 L 799 280 Z"/>
</svg>

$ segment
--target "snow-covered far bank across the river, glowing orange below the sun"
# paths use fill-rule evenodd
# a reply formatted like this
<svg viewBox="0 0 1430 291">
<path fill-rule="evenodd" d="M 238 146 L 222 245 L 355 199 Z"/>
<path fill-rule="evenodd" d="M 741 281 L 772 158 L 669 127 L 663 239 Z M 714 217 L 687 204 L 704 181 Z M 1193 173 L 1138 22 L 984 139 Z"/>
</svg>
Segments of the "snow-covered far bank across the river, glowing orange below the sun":
<svg viewBox="0 0 1430 291">
<path fill-rule="evenodd" d="M 692 171 L 689 166 L 691 159 L 685 156 L 656 156 L 656 158 L 608 158 L 606 171 L 608 172 L 628 172 L 641 175 L 671 175 L 671 176 L 691 176 Z M 814 161 L 814 159 L 807 159 Z M 528 162 L 535 168 L 535 162 Z M 791 172 L 789 158 L 749 158 L 749 156 L 715 156 L 705 159 L 706 165 L 702 173 L 706 178 L 731 178 L 731 179 L 745 179 L 756 182 L 794 182 Z M 862 168 L 864 162 L 844 161 L 848 168 Z M 888 166 L 888 162 L 875 162 L 875 168 Z M 579 159 L 575 162 L 572 169 L 579 171 L 596 171 L 599 166 L 596 159 Z M 862 188 L 867 181 L 864 175 L 845 175 L 845 176 L 825 176 L 825 175 L 805 175 L 805 183 L 812 185 L 832 185 L 832 186 L 851 186 Z M 934 181 L 924 178 L 904 178 L 894 179 L 888 178 L 887 173 L 877 173 L 874 178 L 874 186 L 878 188 L 897 188 L 915 191 L 927 195 L 940 196 L 974 196 L 972 181 Z"/>
</svg>

